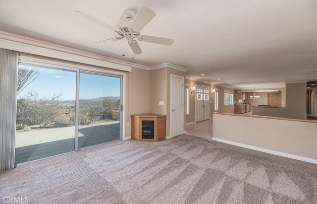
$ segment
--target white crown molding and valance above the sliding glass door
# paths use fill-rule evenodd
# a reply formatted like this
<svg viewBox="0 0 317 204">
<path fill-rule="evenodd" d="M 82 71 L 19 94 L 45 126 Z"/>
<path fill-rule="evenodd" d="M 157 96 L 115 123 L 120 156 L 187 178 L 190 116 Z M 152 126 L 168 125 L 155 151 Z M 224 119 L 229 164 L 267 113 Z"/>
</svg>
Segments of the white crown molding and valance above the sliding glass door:
<svg viewBox="0 0 317 204">
<path fill-rule="evenodd" d="M 102 55 L 68 48 L 4 31 L 0 31 L 0 47 L 18 52 L 29 53 L 60 60 L 72 61 L 104 68 L 113 68 L 123 71 L 131 71 L 131 67 L 137 66 L 134 63 L 127 63 Z M 130 65 L 132 66 L 130 66 Z"/>
</svg>

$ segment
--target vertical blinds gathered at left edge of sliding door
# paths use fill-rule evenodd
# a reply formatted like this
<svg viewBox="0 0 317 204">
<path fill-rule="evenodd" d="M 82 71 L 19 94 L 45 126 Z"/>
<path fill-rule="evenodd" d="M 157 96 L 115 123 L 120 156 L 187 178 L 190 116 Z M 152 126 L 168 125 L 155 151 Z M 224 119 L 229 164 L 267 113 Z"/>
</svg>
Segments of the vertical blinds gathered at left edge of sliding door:
<svg viewBox="0 0 317 204">
<path fill-rule="evenodd" d="M 14 168 L 17 52 L 0 48 L 0 172 Z"/>
</svg>

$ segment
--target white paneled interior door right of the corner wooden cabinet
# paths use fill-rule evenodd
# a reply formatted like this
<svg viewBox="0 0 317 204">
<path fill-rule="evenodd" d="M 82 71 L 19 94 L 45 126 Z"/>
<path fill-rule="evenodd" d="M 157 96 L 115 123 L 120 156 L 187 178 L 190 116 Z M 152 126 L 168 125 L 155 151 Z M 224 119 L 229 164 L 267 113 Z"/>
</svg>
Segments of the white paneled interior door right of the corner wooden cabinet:
<svg viewBox="0 0 317 204">
<path fill-rule="evenodd" d="M 170 77 L 170 136 L 184 133 L 183 129 L 183 103 L 184 103 L 184 78 L 172 75 Z"/>
</svg>

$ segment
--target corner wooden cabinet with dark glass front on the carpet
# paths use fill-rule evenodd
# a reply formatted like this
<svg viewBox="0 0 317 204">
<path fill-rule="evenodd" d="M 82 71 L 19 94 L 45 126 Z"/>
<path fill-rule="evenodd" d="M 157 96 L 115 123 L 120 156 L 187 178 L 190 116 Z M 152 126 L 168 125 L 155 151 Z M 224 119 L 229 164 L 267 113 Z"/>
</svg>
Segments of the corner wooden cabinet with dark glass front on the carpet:
<svg viewBox="0 0 317 204">
<path fill-rule="evenodd" d="M 166 137 L 166 116 L 159 114 L 131 115 L 131 138 L 138 141 L 160 141 Z"/>
</svg>

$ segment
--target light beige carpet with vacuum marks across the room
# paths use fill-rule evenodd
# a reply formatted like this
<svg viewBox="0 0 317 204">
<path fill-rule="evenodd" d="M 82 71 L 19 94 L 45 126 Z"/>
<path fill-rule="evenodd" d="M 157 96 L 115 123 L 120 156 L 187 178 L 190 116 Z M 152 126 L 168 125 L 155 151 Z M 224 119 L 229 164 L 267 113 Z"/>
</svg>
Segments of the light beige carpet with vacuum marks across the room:
<svg viewBox="0 0 317 204">
<path fill-rule="evenodd" d="M 115 141 L 0 173 L 28 203 L 317 203 L 317 165 L 181 135 Z"/>
</svg>

